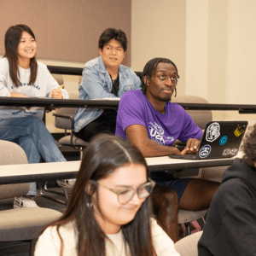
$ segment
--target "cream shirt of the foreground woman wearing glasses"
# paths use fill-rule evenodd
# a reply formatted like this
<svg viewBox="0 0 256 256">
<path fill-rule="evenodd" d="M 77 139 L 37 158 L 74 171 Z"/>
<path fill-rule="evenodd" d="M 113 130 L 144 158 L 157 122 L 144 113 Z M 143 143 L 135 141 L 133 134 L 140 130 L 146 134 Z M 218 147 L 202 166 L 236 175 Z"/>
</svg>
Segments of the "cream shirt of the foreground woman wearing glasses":
<svg viewBox="0 0 256 256">
<path fill-rule="evenodd" d="M 151 223 L 154 249 L 157 256 L 178 256 L 179 253 L 174 248 L 172 239 L 166 235 L 166 232 L 160 228 L 154 219 Z M 70 222 L 60 228 L 60 234 L 64 241 L 63 256 L 77 255 L 76 245 L 78 237 L 75 235 L 75 226 Z M 125 244 L 122 230 L 117 234 L 107 235 L 112 241 L 106 240 L 107 256 L 129 256 L 125 254 Z M 36 245 L 35 256 L 59 256 L 61 240 L 57 234 L 56 227 L 49 226 L 44 233 L 39 236 Z"/>
</svg>

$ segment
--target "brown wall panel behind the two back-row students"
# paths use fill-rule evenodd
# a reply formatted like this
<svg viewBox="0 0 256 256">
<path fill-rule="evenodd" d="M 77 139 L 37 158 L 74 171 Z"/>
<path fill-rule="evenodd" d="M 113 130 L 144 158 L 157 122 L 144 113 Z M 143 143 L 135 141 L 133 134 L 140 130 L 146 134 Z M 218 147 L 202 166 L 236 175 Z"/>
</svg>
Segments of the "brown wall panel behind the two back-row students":
<svg viewBox="0 0 256 256">
<path fill-rule="evenodd" d="M 38 58 L 86 62 L 98 55 L 104 29 L 122 29 L 128 38 L 123 64 L 131 66 L 131 0 L 1 0 L 0 54 L 4 34 L 19 23 L 32 28 Z"/>
</svg>

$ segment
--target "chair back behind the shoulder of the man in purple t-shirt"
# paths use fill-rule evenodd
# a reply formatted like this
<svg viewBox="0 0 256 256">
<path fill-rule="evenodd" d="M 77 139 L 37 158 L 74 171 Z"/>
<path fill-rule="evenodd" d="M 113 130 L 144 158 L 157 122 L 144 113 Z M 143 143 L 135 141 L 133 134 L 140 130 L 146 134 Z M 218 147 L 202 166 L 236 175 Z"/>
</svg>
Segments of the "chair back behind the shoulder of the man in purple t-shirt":
<svg viewBox="0 0 256 256">
<path fill-rule="evenodd" d="M 172 96 L 174 103 L 208 103 L 206 99 L 201 96 Z M 195 124 L 204 130 L 208 122 L 212 121 L 211 110 L 187 110 Z"/>
</svg>

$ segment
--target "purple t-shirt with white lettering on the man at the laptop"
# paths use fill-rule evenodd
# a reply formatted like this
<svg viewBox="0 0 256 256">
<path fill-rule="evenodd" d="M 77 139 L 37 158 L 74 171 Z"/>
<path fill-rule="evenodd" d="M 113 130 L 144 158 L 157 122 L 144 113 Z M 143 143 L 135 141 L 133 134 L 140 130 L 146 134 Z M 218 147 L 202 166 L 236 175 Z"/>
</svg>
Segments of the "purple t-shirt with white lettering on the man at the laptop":
<svg viewBox="0 0 256 256">
<path fill-rule="evenodd" d="M 148 137 L 161 145 L 171 146 L 177 139 L 186 143 L 189 138 L 200 139 L 203 132 L 181 106 L 166 102 L 166 113 L 158 112 L 142 90 L 130 90 L 121 96 L 115 135 L 127 139 L 126 127 L 144 125 Z"/>
</svg>

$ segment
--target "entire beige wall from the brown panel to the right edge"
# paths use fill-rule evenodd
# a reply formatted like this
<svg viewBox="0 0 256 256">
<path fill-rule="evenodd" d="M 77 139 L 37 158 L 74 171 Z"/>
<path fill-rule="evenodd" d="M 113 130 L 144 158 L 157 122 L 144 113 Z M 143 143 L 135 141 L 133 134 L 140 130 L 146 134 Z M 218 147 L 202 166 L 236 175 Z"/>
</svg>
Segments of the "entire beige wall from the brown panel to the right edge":
<svg viewBox="0 0 256 256">
<path fill-rule="evenodd" d="M 255 0 L 132 0 L 131 67 L 166 56 L 181 76 L 178 93 L 211 103 L 255 104 Z M 214 119 L 256 119 L 214 112 Z"/>
</svg>

